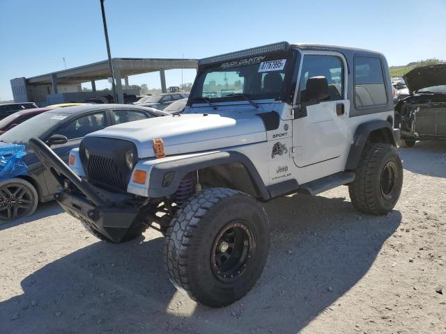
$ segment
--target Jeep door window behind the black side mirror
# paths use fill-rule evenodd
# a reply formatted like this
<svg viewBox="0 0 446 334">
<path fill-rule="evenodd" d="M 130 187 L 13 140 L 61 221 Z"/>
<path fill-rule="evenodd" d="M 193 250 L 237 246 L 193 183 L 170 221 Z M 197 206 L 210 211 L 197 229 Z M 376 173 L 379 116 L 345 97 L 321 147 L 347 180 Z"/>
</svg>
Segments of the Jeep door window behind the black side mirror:
<svg viewBox="0 0 446 334">
<path fill-rule="evenodd" d="M 300 102 L 309 102 L 306 96 L 307 81 L 312 77 L 325 77 L 330 97 L 326 101 L 343 100 L 344 65 L 337 56 L 305 55 L 300 72 Z"/>
</svg>

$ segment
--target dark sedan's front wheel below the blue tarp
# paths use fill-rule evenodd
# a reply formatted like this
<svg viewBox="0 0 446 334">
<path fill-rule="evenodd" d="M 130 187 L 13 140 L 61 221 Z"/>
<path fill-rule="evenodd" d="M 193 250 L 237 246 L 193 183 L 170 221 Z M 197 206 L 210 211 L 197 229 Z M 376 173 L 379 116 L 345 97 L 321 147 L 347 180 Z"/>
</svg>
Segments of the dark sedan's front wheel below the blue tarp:
<svg viewBox="0 0 446 334">
<path fill-rule="evenodd" d="M 22 189 L 22 190 L 20 190 L 20 189 Z M 16 194 L 17 196 L 20 196 L 22 191 L 24 191 L 21 198 L 23 200 L 26 200 L 27 207 L 26 207 L 26 209 L 19 208 L 21 204 L 20 204 L 20 202 L 16 202 L 17 215 L 10 216 L 10 218 L 8 218 L 7 212 L 10 212 L 10 214 L 13 214 L 13 209 L 7 209 L 7 208 L 3 209 L 3 202 L 4 202 L 4 205 L 6 205 L 6 202 L 8 200 L 9 201 L 11 201 L 11 200 L 15 200 L 15 201 L 19 200 L 20 201 L 20 199 L 17 197 L 15 199 L 10 198 L 12 195 L 14 195 L 15 191 L 17 191 L 17 194 Z M 34 188 L 34 186 L 30 182 L 23 180 L 20 177 L 13 177 L 11 179 L 3 180 L 0 182 L 0 198 L 1 198 L 0 205 L 2 205 L 1 208 L 3 209 L 3 210 L 1 210 L 2 212 L 1 212 L 1 217 L 0 217 L 0 225 L 3 223 L 8 223 L 9 221 L 13 221 L 18 218 L 31 216 L 31 214 L 36 212 L 38 201 L 39 201 L 39 197 L 38 197 L 36 188 Z M 10 203 L 8 203 L 8 204 L 10 204 Z M 11 204 L 11 205 L 13 205 L 13 204 Z M 5 212 L 5 210 L 6 210 L 6 212 Z"/>
</svg>

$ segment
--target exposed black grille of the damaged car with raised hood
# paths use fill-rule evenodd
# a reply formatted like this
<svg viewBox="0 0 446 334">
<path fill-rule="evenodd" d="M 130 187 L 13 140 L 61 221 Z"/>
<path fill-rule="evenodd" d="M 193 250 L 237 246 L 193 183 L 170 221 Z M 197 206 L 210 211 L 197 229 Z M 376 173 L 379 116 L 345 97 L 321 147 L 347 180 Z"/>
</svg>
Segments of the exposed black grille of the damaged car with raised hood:
<svg viewBox="0 0 446 334">
<path fill-rule="evenodd" d="M 446 109 L 422 108 L 415 114 L 415 132 L 420 135 L 446 136 Z"/>
</svg>

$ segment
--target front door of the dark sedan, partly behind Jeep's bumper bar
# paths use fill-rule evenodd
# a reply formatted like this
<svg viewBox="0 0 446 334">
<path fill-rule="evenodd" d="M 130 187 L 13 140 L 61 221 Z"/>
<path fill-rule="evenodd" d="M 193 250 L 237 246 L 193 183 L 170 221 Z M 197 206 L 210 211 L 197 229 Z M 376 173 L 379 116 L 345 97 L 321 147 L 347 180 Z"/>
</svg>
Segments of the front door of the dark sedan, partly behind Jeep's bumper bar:
<svg viewBox="0 0 446 334">
<path fill-rule="evenodd" d="M 106 111 L 97 111 L 95 113 L 89 113 L 88 115 L 80 116 L 70 122 L 61 125 L 54 133 L 50 134 L 61 134 L 66 136 L 68 141 L 65 144 L 53 145 L 52 150 L 65 162 L 68 164 L 68 158 L 70 156 L 70 151 L 73 148 L 79 147 L 82 138 L 91 132 L 104 129 L 109 125 L 107 118 L 105 117 Z M 49 137 L 48 136 L 48 137 Z M 61 186 L 56 182 L 51 172 L 45 168 L 43 170 L 43 176 L 47 182 L 47 188 L 49 194 L 56 193 L 61 190 Z"/>
</svg>

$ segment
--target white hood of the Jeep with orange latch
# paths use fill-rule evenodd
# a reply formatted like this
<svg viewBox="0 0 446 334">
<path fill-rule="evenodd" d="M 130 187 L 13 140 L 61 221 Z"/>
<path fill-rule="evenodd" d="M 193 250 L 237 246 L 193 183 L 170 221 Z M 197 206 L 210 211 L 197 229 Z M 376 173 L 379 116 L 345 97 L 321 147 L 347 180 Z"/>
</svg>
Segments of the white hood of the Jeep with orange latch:
<svg viewBox="0 0 446 334">
<path fill-rule="evenodd" d="M 162 116 L 114 125 L 87 136 L 132 141 L 139 159 L 155 157 L 155 138 L 162 138 L 167 155 L 266 141 L 263 122 L 252 113 L 240 113 L 237 118 L 199 113 Z"/>
</svg>

